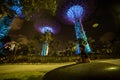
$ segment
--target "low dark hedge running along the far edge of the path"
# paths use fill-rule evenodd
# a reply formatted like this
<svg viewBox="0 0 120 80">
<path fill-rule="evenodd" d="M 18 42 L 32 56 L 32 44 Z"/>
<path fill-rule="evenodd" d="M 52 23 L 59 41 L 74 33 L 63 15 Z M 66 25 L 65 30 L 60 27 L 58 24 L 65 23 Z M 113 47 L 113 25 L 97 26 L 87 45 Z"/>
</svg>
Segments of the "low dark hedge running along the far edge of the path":
<svg viewBox="0 0 120 80">
<path fill-rule="evenodd" d="M 109 58 L 120 58 L 120 55 L 115 54 L 88 54 L 91 60 L 95 59 L 109 59 Z M 79 56 L 71 57 L 41 57 L 39 55 L 17 55 L 11 57 L 5 57 L 5 59 L 0 60 L 0 63 L 64 63 L 64 62 L 74 62 L 79 58 Z"/>
</svg>

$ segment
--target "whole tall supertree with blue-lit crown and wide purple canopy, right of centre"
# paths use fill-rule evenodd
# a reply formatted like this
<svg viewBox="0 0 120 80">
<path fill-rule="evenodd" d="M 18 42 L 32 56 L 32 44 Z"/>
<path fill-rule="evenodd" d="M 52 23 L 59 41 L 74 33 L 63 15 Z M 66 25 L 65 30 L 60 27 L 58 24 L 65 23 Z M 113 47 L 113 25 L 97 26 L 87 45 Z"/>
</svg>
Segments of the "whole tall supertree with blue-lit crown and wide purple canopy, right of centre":
<svg viewBox="0 0 120 80">
<path fill-rule="evenodd" d="M 57 9 L 57 17 L 63 22 L 75 26 L 76 33 L 76 54 L 80 53 L 79 45 L 85 45 L 85 51 L 91 52 L 87 41 L 85 31 L 83 29 L 82 21 L 95 9 L 94 0 L 67 0 L 63 5 L 59 5 Z"/>
</svg>

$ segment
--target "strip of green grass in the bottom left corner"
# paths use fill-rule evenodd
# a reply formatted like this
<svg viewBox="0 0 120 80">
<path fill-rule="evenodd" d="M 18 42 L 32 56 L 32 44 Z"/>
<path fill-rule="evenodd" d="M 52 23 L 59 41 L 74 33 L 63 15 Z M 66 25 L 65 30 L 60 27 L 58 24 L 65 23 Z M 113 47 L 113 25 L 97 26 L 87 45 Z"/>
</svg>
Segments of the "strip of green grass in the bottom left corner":
<svg viewBox="0 0 120 80">
<path fill-rule="evenodd" d="M 42 80 L 45 72 L 28 71 L 0 74 L 0 80 Z"/>
</svg>

